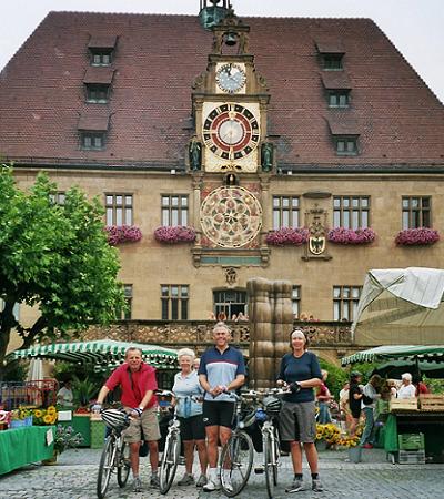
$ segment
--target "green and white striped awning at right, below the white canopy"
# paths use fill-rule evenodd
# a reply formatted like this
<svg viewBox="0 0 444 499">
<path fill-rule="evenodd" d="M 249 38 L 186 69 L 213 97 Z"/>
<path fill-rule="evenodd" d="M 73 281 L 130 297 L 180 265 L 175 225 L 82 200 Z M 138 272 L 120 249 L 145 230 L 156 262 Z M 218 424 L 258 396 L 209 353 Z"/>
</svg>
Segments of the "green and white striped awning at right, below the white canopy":
<svg viewBox="0 0 444 499">
<path fill-rule="evenodd" d="M 421 361 L 444 363 L 443 345 L 387 345 L 343 357 L 342 366 L 357 363 L 382 363 L 386 360 L 418 359 Z"/>
</svg>

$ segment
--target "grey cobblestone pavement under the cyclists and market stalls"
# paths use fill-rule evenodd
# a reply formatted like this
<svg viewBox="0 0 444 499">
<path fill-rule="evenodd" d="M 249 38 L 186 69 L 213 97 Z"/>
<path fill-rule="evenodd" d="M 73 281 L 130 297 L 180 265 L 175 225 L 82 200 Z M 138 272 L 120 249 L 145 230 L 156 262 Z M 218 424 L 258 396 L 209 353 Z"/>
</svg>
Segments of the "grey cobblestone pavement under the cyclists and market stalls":
<svg viewBox="0 0 444 499">
<path fill-rule="evenodd" d="M 30 465 L 0 477 L 0 499 L 92 499 L 95 497 L 95 478 L 100 450 L 69 450 L 59 457 L 56 466 Z M 258 462 L 260 462 L 260 456 Z M 363 462 L 345 461 L 344 451 L 320 454 L 320 478 L 324 492 L 310 490 L 310 471 L 304 468 L 306 490 L 286 495 L 285 487 L 291 482 L 290 459 L 283 458 L 280 469 L 280 486 L 275 498 L 295 497 L 297 499 L 442 499 L 444 498 L 444 465 L 392 465 L 381 449 L 366 450 Z M 1 457 L 0 457 L 1 459 Z M 147 459 L 142 461 L 141 478 L 143 492 L 131 492 L 131 477 L 124 489 L 119 489 L 115 477 L 111 478 L 107 499 L 220 499 L 221 492 L 205 493 L 195 487 L 173 485 L 167 496 L 149 488 Z M 178 468 L 176 478 L 184 469 Z M 241 499 L 266 498 L 263 475 L 252 473 L 248 487 L 239 496 Z"/>
</svg>

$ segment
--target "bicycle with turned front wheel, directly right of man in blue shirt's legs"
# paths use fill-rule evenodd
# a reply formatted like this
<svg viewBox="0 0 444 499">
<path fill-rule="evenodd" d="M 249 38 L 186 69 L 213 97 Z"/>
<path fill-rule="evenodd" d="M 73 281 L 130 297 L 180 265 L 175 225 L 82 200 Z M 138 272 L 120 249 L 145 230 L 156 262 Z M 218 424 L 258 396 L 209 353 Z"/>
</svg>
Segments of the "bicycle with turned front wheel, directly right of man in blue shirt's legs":
<svg viewBox="0 0 444 499">
<path fill-rule="evenodd" d="M 242 418 L 242 397 L 231 394 L 235 399 L 234 429 L 223 446 L 220 458 L 220 481 L 225 496 L 235 497 L 249 481 L 253 466 L 253 442 L 244 431 L 255 420 L 255 409 Z"/>
</svg>

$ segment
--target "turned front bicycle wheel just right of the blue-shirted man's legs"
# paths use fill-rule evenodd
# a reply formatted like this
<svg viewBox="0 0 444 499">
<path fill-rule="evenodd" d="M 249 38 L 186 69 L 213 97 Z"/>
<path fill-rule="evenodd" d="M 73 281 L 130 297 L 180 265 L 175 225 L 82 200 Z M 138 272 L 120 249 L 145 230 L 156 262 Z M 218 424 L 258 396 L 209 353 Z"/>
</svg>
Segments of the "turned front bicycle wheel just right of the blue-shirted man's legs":
<svg viewBox="0 0 444 499">
<path fill-rule="evenodd" d="M 253 466 L 253 442 L 243 431 L 231 436 L 221 452 L 221 486 L 225 496 L 240 493 L 249 481 Z"/>
</svg>

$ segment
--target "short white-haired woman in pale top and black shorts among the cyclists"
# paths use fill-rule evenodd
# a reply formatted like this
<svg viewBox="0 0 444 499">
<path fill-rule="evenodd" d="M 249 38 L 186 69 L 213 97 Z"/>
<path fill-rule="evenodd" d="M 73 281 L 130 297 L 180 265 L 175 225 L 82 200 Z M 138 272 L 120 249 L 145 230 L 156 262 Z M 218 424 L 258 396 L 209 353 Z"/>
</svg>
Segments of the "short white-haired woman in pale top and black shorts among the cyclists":
<svg viewBox="0 0 444 499">
<path fill-rule="evenodd" d="M 194 352 L 182 348 L 178 352 L 181 371 L 174 376 L 173 393 L 176 397 L 178 417 L 185 455 L 185 473 L 178 482 L 180 486 L 193 485 L 194 446 L 198 448 L 201 465 L 201 476 L 198 487 L 206 483 L 206 444 L 205 427 L 203 425 L 202 401 L 203 389 L 199 383 L 198 371 L 193 369 Z"/>
</svg>

